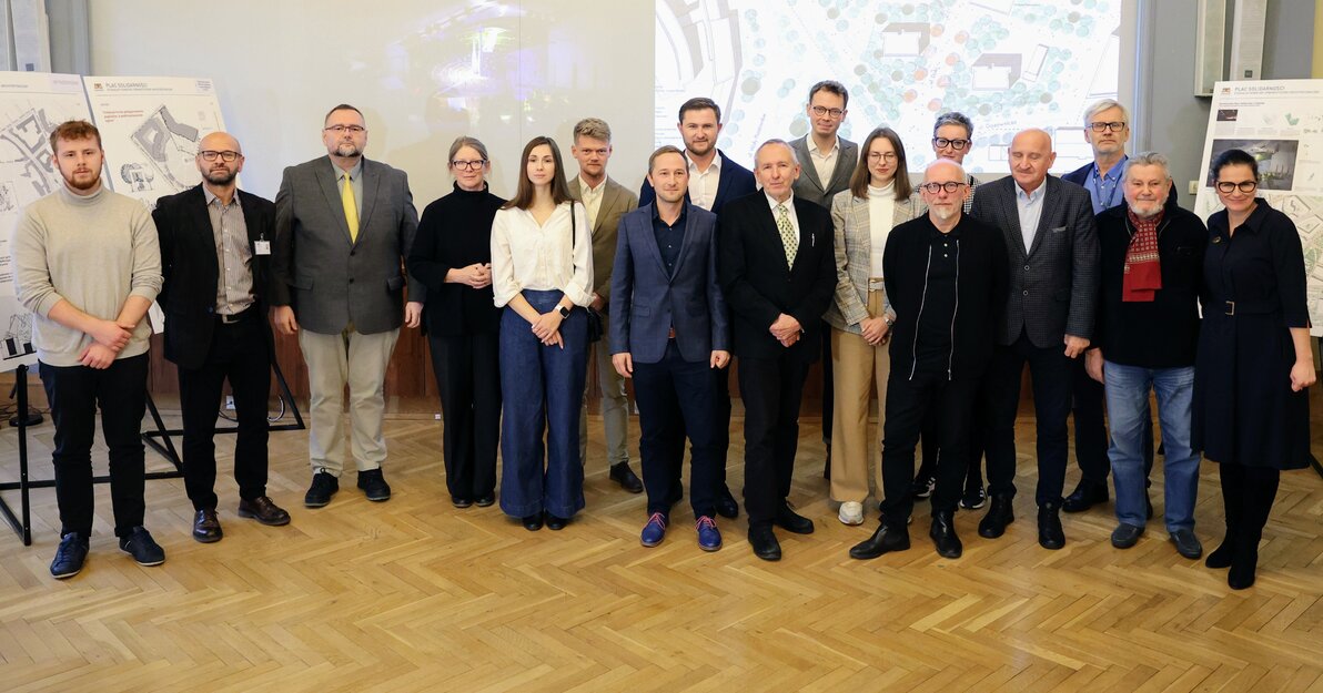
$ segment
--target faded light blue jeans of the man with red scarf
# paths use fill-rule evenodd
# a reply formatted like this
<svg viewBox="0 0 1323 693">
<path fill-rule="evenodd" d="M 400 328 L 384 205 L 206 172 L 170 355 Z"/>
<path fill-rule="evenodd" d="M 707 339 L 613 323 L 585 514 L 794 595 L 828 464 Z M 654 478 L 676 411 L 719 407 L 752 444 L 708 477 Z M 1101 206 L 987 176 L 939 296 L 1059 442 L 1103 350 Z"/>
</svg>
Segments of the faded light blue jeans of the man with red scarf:
<svg viewBox="0 0 1323 693">
<path fill-rule="evenodd" d="M 1158 423 L 1162 426 L 1163 512 L 1167 532 L 1195 528 L 1195 500 L 1199 496 L 1199 452 L 1189 448 L 1191 403 L 1195 393 L 1195 366 L 1140 368 L 1106 361 L 1107 421 L 1111 425 L 1113 483 L 1117 488 L 1117 520 L 1144 526 L 1143 419 L 1148 391 L 1158 393 Z"/>
</svg>

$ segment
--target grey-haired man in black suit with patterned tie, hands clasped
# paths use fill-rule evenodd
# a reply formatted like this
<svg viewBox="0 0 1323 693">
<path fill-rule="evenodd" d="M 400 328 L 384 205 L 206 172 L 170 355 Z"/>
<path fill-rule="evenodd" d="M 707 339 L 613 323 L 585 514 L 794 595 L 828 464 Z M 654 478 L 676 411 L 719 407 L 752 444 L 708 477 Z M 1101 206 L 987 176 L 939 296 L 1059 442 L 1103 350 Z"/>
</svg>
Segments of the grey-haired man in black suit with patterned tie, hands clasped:
<svg viewBox="0 0 1323 693">
<path fill-rule="evenodd" d="M 730 306 L 740 394 L 745 405 L 745 507 L 749 544 L 781 558 L 771 525 L 808 534 L 814 522 L 786 504 L 799 440 L 799 401 L 820 352 L 822 315 L 836 288 L 831 214 L 799 200 L 795 151 L 767 140 L 755 155 L 762 192 L 725 206 L 720 276 Z"/>
</svg>

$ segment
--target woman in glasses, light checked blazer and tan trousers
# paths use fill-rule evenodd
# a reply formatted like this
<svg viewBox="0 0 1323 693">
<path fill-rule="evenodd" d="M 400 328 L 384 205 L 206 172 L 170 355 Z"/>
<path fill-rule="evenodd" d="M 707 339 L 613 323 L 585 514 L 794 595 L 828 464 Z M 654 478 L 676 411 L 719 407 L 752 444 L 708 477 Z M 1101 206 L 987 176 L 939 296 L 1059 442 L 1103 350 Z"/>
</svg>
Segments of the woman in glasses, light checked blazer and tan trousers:
<svg viewBox="0 0 1323 693">
<path fill-rule="evenodd" d="M 868 135 L 860 149 L 859 165 L 849 189 L 832 198 L 831 216 L 836 226 L 836 299 L 823 316 L 832 327 L 831 353 L 836 418 L 831 431 L 831 497 L 840 503 L 840 521 L 864 521 L 869 476 L 878 497 L 882 481 L 880 466 L 869 460 L 868 405 L 877 384 L 878 411 L 886 402 L 890 358 L 886 337 L 894 313 L 882 290 L 882 249 L 892 227 L 921 213 L 918 193 L 909 181 L 905 145 L 892 128 L 880 127 Z M 881 419 L 881 417 L 878 417 Z M 877 422 L 881 435 L 882 422 Z M 881 442 L 878 442 L 881 448 Z"/>
</svg>

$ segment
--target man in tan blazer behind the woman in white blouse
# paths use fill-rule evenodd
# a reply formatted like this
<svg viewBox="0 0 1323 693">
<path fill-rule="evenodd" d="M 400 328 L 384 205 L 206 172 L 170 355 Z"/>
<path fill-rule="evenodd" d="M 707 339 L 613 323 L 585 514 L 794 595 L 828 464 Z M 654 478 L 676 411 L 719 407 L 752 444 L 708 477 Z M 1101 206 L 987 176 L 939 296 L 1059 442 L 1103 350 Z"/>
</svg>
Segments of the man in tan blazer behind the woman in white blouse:
<svg viewBox="0 0 1323 693">
<path fill-rule="evenodd" d="M 583 202 L 587 225 L 593 229 L 593 303 L 602 320 L 602 339 L 593 345 L 591 361 L 597 364 L 597 386 L 602 390 L 602 426 L 606 428 L 606 462 L 610 477 L 630 493 L 642 493 L 643 481 L 630 469 L 628 421 L 630 399 L 624 395 L 624 378 L 611 365 L 607 343 L 611 299 L 611 265 L 620 217 L 639 206 L 639 198 L 606 175 L 611 159 L 611 126 L 601 118 L 585 118 L 574 124 L 570 155 L 579 163 L 579 175 L 569 181 L 570 197 Z M 579 459 L 587 460 L 587 399 L 579 413 Z"/>
</svg>

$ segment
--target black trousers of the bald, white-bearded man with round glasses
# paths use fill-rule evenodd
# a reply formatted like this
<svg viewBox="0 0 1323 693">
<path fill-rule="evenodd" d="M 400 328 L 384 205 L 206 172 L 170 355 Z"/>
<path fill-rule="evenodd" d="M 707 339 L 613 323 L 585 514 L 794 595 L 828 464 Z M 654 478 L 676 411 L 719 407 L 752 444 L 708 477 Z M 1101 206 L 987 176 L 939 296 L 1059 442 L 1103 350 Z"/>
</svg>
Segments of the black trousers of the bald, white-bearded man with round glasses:
<svg viewBox="0 0 1323 693">
<path fill-rule="evenodd" d="M 955 512 L 970 467 L 970 431 L 978 380 L 946 380 L 946 373 L 892 370 L 882 425 L 882 522 L 902 528 L 914 510 L 914 446 L 929 418 L 937 426 L 933 512 Z"/>
</svg>

